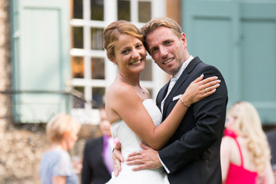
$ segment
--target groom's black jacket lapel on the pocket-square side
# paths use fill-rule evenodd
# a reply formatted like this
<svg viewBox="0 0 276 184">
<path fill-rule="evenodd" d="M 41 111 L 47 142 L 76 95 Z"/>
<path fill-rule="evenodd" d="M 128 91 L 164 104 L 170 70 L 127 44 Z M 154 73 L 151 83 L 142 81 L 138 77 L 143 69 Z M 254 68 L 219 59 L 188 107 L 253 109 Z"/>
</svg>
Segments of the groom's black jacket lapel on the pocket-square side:
<svg viewBox="0 0 276 184">
<path fill-rule="evenodd" d="M 195 57 L 192 61 L 190 61 L 190 63 L 188 64 L 184 72 L 182 72 L 181 76 L 177 80 L 177 83 L 175 83 L 175 85 L 173 86 L 172 90 L 170 91 L 170 94 L 168 94 L 163 108 L 163 114 L 162 114 L 163 120 L 166 119 L 166 117 L 168 116 L 168 113 L 170 113 L 170 110 L 168 111 L 168 113 L 167 113 L 167 110 L 168 110 L 169 103 L 172 102 L 172 98 L 176 95 L 183 94 L 185 92 L 188 85 L 186 86 L 186 88 L 181 88 L 181 85 L 184 85 L 184 82 L 186 81 L 186 79 L 188 79 L 190 72 L 194 70 L 195 66 L 199 62 L 201 62 L 199 57 Z M 166 85 L 168 85 L 168 83 Z M 167 89 L 168 89 L 168 86 L 167 86 Z"/>
</svg>

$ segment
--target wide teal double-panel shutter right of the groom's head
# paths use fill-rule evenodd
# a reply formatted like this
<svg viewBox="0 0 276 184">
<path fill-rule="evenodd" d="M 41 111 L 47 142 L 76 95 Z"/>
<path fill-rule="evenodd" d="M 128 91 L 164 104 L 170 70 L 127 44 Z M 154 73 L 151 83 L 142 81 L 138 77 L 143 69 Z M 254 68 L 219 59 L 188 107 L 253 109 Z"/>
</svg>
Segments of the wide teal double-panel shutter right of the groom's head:
<svg viewBox="0 0 276 184">
<path fill-rule="evenodd" d="M 224 74 L 229 105 L 249 101 L 264 124 L 276 124 L 276 3 L 182 1 L 188 50 Z"/>
</svg>

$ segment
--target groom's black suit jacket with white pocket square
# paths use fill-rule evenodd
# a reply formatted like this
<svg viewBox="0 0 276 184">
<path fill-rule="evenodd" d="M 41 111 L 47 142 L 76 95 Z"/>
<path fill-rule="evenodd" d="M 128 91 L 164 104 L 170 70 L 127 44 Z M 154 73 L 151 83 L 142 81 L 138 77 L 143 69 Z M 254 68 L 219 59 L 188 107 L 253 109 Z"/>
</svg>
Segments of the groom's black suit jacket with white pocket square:
<svg viewBox="0 0 276 184">
<path fill-rule="evenodd" d="M 218 76 L 221 80 L 215 94 L 193 104 L 177 131 L 164 149 L 159 151 L 161 161 L 168 167 L 170 183 L 221 183 L 220 144 L 226 118 L 228 94 L 223 76 L 214 66 L 203 63 L 195 57 L 181 74 L 164 103 L 163 120 L 170 114 L 177 100 L 174 96 L 183 94 L 188 85 L 204 74 Z M 166 96 L 168 83 L 157 95 L 157 106 Z"/>
</svg>

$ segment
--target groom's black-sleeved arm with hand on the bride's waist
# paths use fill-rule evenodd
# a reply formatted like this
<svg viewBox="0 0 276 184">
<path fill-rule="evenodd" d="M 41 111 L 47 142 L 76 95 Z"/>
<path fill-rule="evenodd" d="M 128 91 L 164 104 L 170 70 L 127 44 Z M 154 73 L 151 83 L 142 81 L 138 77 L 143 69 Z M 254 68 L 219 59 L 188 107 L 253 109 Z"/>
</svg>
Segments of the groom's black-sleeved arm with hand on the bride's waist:
<svg viewBox="0 0 276 184">
<path fill-rule="evenodd" d="M 213 67 L 208 67 L 206 68 L 207 71 L 201 71 L 201 73 L 204 73 L 206 77 L 217 75 L 219 79 L 223 79 L 220 72 L 216 69 L 214 71 L 214 69 Z M 198 124 L 197 127 L 186 132 L 180 139 L 160 150 L 159 153 L 155 150 L 148 149 L 137 156 L 135 152 L 133 152 L 130 154 L 131 157 L 126 159 L 126 163 L 128 165 L 139 166 L 132 170 L 155 169 L 157 168 L 155 167 L 157 166 L 156 163 L 159 163 L 158 167 L 164 165 L 168 173 L 175 172 L 179 167 L 192 161 L 197 155 L 213 145 L 220 137 L 219 132 L 221 132 L 221 127 L 222 129 L 224 127 L 228 98 L 224 80 L 217 89 L 217 92 L 208 98 L 209 99 L 204 99 L 193 105 L 193 113 L 196 116 Z M 208 108 L 207 111 L 206 108 Z M 151 155 L 151 158 L 149 155 Z M 176 158 L 181 160 L 177 160 Z"/>
</svg>

